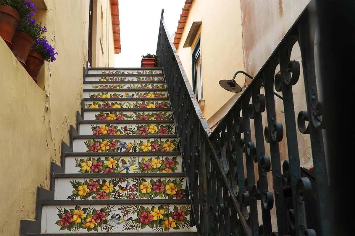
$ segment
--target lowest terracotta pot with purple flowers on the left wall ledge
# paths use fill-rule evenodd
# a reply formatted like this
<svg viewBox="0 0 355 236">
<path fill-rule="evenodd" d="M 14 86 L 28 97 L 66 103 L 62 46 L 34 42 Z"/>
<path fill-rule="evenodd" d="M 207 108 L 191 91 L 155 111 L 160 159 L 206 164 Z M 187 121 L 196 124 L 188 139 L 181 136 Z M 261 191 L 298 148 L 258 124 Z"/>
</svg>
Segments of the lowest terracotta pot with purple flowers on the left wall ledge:
<svg viewBox="0 0 355 236">
<path fill-rule="evenodd" d="M 26 70 L 32 79 L 37 83 L 37 75 L 44 61 L 54 62 L 55 55 L 54 47 L 52 47 L 45 37 L 34 40 L 33 46 L 29 51 L 26 60 Z"/>
</svg>

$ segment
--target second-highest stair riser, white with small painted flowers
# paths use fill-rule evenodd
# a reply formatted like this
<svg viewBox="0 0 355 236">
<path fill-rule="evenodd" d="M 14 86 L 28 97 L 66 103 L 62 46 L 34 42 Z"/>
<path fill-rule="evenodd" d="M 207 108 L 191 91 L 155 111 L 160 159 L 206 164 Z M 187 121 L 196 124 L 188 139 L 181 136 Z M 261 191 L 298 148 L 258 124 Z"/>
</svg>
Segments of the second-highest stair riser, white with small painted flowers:
<svg viewBox="0 0 355 236">
<path fill-rule="evenodd" d="M 165 81 L 163 74 L 86 74 L 84 80 L 101 82 L 144 81 L 146 83 L 154 83 L 155 81 Z"/>
</svg>

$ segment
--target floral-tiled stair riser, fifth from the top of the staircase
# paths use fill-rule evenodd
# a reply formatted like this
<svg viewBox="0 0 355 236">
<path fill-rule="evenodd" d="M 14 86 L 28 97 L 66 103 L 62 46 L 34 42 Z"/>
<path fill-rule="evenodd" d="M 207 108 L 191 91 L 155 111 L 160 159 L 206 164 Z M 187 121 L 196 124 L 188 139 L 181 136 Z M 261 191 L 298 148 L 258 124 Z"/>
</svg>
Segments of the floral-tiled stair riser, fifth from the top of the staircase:
<svg viewBox="0 0 355 236">
<path fill-rule="evenodd" d="M 119 108 L 170 108 L 169 101 L 102 101 L 102 102 L 92 102 L 85 101 L 85 108 L 107 108 L 107 109 L 119 109 Z"/>
</svg>

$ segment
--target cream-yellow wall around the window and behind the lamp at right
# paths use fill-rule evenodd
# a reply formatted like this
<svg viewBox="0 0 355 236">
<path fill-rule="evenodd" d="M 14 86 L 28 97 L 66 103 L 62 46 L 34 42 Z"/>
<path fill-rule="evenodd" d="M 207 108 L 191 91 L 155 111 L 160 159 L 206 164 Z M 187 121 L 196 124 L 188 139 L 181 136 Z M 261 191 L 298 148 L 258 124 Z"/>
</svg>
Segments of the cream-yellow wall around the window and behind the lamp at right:
<svg viewBox="0 0 355 236">
<path fill-rule="evenodd" d="M 202 21 L 193 45 L 184 48 L 184 43 L 195 21 Z M 240 2 L 225 0 L 216 4 L 215 0 L 195 0 L 189 11 L 182 33 L 178 54 L 192 85 L 191 53 L 198 35 L 201 33 L 202 89 L 205 106 L 202 110 L 210 126 L 215 125 L 228 111 L 239 94 L 224 90 L 218 84 L 221 79 L 231 79 L 235 71 L 244 70 Z M 240 86 L 245 84 L 245 76 L 237 75 Z M 227 103 L 227 104 L 225 104 Z"/>
</svg>

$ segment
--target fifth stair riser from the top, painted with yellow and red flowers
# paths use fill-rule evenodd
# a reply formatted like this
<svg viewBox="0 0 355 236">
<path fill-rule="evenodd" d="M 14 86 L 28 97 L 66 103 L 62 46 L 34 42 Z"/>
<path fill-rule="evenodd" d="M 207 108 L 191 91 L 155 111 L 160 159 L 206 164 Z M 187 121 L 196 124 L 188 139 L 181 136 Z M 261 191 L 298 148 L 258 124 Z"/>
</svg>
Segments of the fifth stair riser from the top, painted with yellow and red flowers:
<svg viewBox="0 0 355 236">
<path fill-rule="evenodd" d="M 86 109 L 170 108 L 168 98 L 84 98 Z"/>
</svg>

